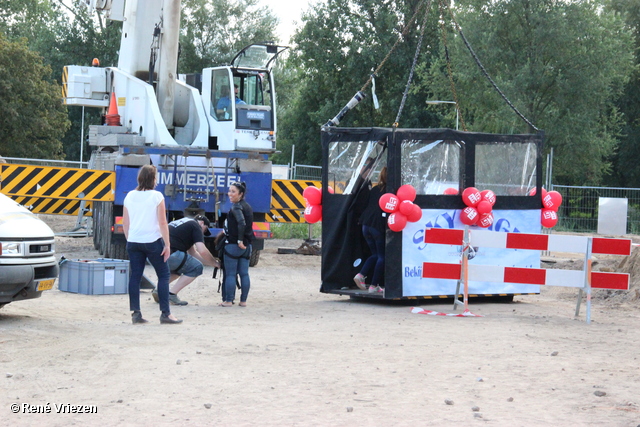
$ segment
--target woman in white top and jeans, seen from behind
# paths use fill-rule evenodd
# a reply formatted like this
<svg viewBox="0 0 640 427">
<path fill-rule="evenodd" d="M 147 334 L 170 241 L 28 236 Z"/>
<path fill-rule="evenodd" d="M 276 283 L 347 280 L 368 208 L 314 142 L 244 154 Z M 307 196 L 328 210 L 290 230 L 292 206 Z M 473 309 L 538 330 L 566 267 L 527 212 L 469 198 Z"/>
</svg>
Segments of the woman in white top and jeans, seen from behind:
<svg viewBox="0 0 640 427">
<path fill-rule="evenodd" d="M 164 196 L 156 187 L 156 167 L 145 165 L 138 172 L 138 187 L 124 199 L 123 225 L 129 253 L 129 308 L 131 321 L 147 323 L 140 312 L 140 282 L 148 259 L 158 276 L 160 323 L 181 323 L 169 308 L 169 228 Z"/>
</svg>

